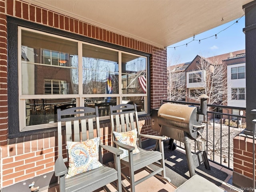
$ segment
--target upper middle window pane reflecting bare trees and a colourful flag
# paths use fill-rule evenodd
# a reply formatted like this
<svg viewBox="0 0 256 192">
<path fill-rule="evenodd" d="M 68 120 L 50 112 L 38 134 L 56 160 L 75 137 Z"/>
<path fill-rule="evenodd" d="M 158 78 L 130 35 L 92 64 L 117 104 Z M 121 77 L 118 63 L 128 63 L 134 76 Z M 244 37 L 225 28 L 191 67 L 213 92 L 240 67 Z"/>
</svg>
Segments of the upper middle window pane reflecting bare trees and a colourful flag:
<svg viewBox="0 0 256 192">
<path fill-rule="evenodd" d="M 118 93 L 118 52 L 83 45 L 83 94 Z"/>
</svg>

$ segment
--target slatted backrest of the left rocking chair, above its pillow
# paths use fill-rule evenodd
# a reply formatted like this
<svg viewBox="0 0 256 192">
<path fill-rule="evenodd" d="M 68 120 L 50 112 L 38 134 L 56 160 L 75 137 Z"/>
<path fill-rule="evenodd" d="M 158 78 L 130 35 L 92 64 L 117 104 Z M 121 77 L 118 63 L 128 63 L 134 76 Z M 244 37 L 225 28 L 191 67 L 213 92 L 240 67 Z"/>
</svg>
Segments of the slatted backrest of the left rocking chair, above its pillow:
<svg viewBox="0 0 256 192">
<path fill-rule="evenodd" d="M 100 123 L 98 107 L 73 107 L 65 110 L 58 109 L 58 154 L 62 156 L 63 144 L 67 141 L 80 142 L 95 137 L 100 137 Z M 95 125 L 94 122 L 96 121 Z M 62 122 L 65 122 L 62 124 Z M 66 133 L 65 137 L 63 129 Z M 96 135 L 94 128 L 96 127 Z M 65 141 L 63 139 L 65 138 Z M 62 147 L 60 147 L 62 146 Z"/>
</svg>

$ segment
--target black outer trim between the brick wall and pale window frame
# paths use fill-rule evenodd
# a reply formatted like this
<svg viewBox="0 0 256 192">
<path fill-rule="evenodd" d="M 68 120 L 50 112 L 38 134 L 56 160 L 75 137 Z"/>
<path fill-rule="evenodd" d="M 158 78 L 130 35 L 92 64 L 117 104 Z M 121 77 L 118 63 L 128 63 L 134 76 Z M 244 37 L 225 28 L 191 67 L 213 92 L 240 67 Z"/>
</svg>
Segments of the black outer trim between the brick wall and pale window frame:
<svg viewBox="0 0 256 192">
<path fill-rule="evenodd" d="M 74 41 L 82 41 L 83 43 L 88 43 L 88 44 L 93 44 L 94 46 L 103 46 L 103 48 L 110 48 L 114 49 L 119 52 L 126 52 L 128 54 L 135 54 L 138 56 L 144 56 L 146 57 L 146 75 L 148 78 L 147 82 L 147 93 L 146 93 L 146 104 L 145 108 L 147 108 L 147 114 L 144 115 L 150 115 L 150 54 L 133 50 L 130 48 L 122 47 L 122 46 L 117 46 L 108 42 L 103 42 L 100 40 L 95 40 L 88 38 L 86 36 L 81 36 L 78 34 L 73 34 L 71 32 L 65 32 L 59 29 L 54 29 L 50 28 L 48 26 L 42 26 L 40 24 L 35 24 L 32 22 L 25 22 L 24 20 L 20 20 L 18 18 L 12 18 L 12 17 L 7 17 L 7 28 L 8 28 L 8 52 L 12 52 L 12 54 L 8 55 L 8 112 L 9 112 L 9 118 L 8 118 L 8 123 L 12 124 L 10 128 L 8 129 L 9 138 L 14 138 L 14 137 L 20 137 L 20 136 L 27 136 L 27 135 L 33 135 L 33 134 L 39 134 L 39 133 L 45 133 L 45 132 L 52 132 L 56 130 L 56 127 L 44 127 L 40 126 L 40 128 L 34 127 L 33 130 L 26 130 L 26 132 L 21 132 L 20 131 L 20 112 L 26 112 L 25 108 L 21 111 L 19 110 L 19 89 L 18 87 L 20 86 L 20 82 L 18 81 L 18 50 L 20 50 L 20 47 L 18 46 L 18 27 L 24 27 L 28 28 L 30 30 L 36 30 L 40 32 L 46 32 L 47 34 L 50 35 L 57 35 L 62 38 L 69 38 Z M 72 38 L 70 38 L 72 37 Z M 20 38 L 20 37 L 19 37 Z M 21 58 L 20 58 L 21 59 Z M 17 84 L 18 82 L 18 84 Z M 41 95 L 42 96 L 42 95 Z M 50 97 L 50 98 L 59 98 L 60 95 L 43 95 L 44 98 Z M 92 95 L 95 97 L 95 95 Z M 97 95 L 100 97 L 100 95 Z M 114 96 L 114 94 L 113 94 Z M 128 96 L 131 96 L 128 94 Z M 136 95 L 133 95 L 136 96 Z M 78 95 L 72 95 L 72 97 L 79 98 Z M 36 95 L 33 95 L 33 98 L 39 98 Z M 25 100 L 23 100 L 25 101 Z M 25 104 L 23 104 L 25 106 Z M 26 114 L 26 113 L 25 113 Z"/>
</svg>

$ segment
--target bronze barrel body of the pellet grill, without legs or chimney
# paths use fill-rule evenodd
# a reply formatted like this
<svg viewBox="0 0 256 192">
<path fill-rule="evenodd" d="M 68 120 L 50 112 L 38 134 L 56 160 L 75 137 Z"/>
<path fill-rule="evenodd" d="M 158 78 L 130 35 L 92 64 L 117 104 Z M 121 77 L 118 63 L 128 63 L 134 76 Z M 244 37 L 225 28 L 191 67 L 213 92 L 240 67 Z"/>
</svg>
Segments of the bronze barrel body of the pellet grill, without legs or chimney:
<svg viewBox="0 0 256 192">
<path fill-rule="evenodd" d="M 204 116 L 198 114 L 196 106 L 181 104 L 163 104 L 157 113 L 157 123 L 162 128 L 152 126 L 152 128 L 161 129 L 161 134 L 182 141 L 184 133 L 188 138 L 194 140 L 202 134 L 205 124 L 202 123 Z M 178 131 L 178 130 L 182 130 Z M 160 130 L 156 130 L 160 132 Z M 177 138 L 178 137 L 178 138 Z"/>
</svg>

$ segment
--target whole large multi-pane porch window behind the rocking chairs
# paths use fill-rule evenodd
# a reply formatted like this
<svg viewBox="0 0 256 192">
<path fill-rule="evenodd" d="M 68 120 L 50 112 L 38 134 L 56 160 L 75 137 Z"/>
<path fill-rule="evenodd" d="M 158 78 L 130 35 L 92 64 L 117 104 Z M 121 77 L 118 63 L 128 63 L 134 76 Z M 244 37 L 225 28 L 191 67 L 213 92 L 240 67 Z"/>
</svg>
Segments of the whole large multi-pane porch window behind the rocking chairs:
<svg viewBox="0 0 256 192">
<path fill-rule="evenodd" d="M 20 131 L 56 126 L 57 109 L 136 103 L 147 113 L 148 57 L 18 27 Z"/>
</svg>

